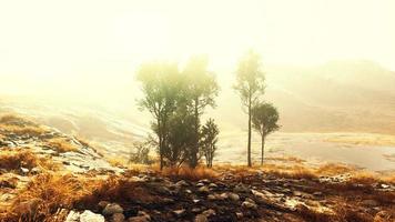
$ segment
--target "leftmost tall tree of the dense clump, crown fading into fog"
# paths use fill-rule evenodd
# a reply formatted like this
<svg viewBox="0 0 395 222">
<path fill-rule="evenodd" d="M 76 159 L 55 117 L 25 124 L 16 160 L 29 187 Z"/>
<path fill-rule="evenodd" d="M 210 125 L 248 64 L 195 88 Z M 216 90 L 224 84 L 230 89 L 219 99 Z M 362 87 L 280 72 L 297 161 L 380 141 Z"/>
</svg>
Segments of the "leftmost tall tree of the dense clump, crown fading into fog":
<svg viewBox="0 0 395 222">
<path fill-rule="evenodd" d="M 151 62 L 141 65 L 136 79 L 142 83 L 144 98 L 140 100 L 141 109 L 146 109 L 154 117 L 152 124 L 158 135 L 160 168 L 163 169 L 163 151 L 168 145 L 168 122 L 178 107 L 181 95 L 180 72 L 175 63 Z"/>
</svg>

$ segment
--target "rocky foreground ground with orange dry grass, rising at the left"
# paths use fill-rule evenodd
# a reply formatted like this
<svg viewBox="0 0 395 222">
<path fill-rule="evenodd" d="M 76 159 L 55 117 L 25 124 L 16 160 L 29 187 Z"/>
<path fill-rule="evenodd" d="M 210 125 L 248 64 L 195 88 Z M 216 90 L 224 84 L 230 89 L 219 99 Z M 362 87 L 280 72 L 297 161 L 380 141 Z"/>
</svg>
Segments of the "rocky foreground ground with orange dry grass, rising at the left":
<svg viewBox="0 0 395 222">
<path fill-rule="evenodd" d="M 0 221 L 395 221 L 391 181 L 237 167 L 173 175 L 112 167 L 22 119 L 1 120 L 0 135 Z"/>
</svg>

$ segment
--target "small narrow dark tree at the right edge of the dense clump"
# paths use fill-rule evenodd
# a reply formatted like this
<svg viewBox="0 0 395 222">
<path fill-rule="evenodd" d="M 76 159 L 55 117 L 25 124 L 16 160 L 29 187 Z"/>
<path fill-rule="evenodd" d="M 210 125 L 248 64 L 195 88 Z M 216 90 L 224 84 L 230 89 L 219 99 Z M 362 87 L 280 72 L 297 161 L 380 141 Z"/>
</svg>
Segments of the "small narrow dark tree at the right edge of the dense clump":
<svg viewBox="0 0 395 222">
<path fill-rule="evenodd" d="M 217 135 L 220 131 L 213 119 L 209 119 L 201 130 L 201 148 L 207 168 L 213 167 L 213 159 L 216 151 Z"/>
</svg>

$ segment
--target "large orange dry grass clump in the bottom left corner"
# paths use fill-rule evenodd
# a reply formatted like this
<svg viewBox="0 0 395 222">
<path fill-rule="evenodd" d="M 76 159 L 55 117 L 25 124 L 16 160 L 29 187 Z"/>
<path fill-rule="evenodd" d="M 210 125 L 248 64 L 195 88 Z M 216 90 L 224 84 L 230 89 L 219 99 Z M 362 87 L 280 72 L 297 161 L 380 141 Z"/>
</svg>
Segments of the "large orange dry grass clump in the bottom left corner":
<svg viewBox="0 0 395 222">
<path fill-rule="evenodd" d="M 32 179 L 0 221 L 48 222 L 58 209 L 71 209 L 77 200 L 90 194 L 94 183 L 73 175 L 40 174 Z M 64 220 L 64 219 L 63 219 Z"/>
</svg>

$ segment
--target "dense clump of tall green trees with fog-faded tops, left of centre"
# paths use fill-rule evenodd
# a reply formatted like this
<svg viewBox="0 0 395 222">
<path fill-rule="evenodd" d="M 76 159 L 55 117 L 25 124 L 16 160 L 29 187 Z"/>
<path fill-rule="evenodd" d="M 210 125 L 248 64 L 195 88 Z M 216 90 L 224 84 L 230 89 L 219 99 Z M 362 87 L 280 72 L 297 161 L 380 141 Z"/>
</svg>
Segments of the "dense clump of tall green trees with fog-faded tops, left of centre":
<svg viewBox="0 0 395 222">
<path fill-rule="evenodd" d="M 174 63 L 145 63 L 136 78 L 144 93 L 139 105 L 155 119 L 152 130 L 159 140 L 161 169 L 185 161 L 196 167 L 200 117 L 205 107 L 215 105 L 219 91 L 214 74 L 207 71 L 206 59 L 192 58 L 183 72 Z"/>
</svg>

